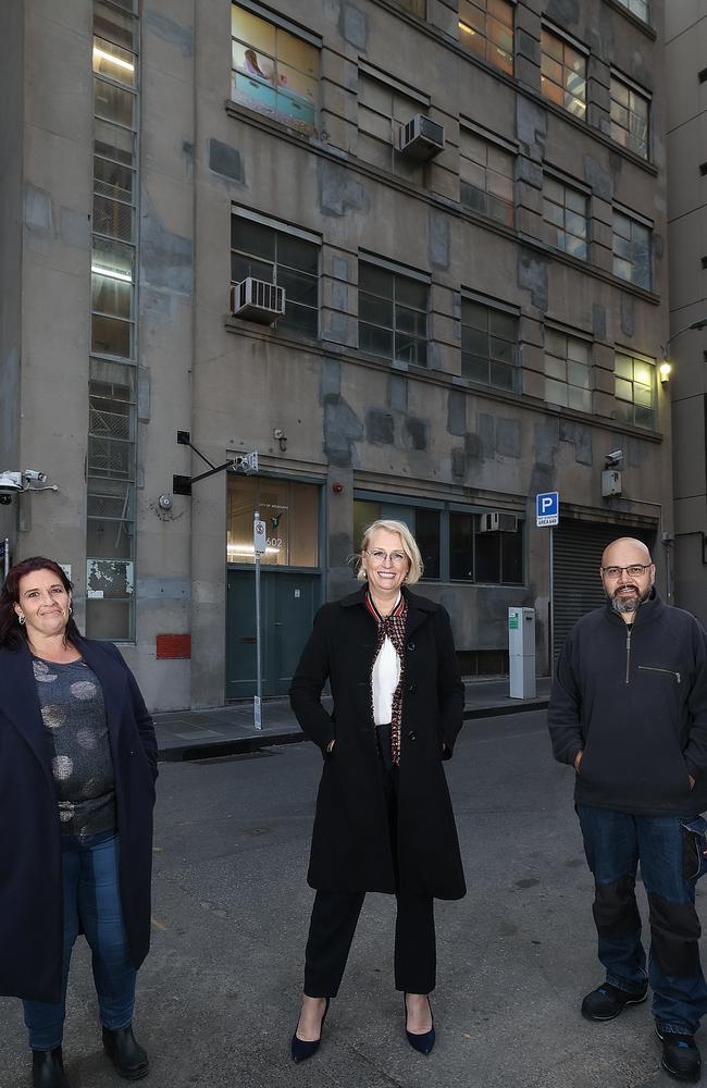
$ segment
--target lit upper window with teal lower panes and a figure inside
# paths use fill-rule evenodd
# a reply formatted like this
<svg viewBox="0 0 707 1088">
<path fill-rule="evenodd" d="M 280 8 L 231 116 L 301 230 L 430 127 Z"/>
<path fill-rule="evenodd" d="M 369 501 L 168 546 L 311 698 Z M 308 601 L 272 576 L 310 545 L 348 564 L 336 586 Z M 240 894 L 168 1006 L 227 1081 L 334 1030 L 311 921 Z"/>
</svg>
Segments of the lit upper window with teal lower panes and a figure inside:
<svg viewBox="0 0 707 1088">
<path fill-rule="evenodd" d="M 231 9 L 234 102 L 295 128 L 314 132 L 319 50 L 233 4 Z"/>
</svg>

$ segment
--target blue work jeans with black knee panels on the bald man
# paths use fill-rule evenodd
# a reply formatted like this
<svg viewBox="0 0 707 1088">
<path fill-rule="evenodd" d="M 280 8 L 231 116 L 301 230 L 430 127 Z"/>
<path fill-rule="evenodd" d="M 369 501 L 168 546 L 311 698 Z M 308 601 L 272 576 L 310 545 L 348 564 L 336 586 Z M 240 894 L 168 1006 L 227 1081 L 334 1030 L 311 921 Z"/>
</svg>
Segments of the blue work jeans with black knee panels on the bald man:
<svg viewBox="0 0 707 1088">
<path fill-rule="evenodd" d="M 649 981 L 658 1028 L 694 1035 L 707 1012 L 707 984 L 695 911 L 695 883 L 704 860 L 695 834 L 685 827 L 691 821 L 592 805 L 578 805 L 576 811 L 594 874 L 594 920 L 607 982 L 640 993 Z M 634 894 L 638 862 L 650 924 L 647 975 Z"/>
</svg>

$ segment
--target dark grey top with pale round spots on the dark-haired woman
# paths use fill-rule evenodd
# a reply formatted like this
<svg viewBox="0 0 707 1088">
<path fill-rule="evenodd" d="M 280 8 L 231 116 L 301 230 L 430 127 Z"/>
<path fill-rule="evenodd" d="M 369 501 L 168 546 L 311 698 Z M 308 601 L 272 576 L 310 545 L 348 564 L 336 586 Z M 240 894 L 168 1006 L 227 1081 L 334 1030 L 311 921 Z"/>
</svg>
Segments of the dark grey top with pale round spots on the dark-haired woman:
<svg viewBox="0 0 707 1088">
<path fill-rule="evenodd" d="M 103 689 L 83 659 L 59 665 L 33 657 L 37 694 L 52 749 L 62 834 L 115 827 L 115 778 Z"/>
</svg>

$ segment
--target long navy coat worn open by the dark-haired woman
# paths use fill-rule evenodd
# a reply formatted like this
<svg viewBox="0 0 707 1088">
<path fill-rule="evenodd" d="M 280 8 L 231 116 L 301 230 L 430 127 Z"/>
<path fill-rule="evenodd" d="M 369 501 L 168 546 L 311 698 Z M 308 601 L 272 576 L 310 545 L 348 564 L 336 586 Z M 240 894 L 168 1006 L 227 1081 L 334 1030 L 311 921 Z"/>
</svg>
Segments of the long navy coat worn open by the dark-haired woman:
<svg viewBox="0 0 707 1088">
<path fill-rule="evenodd" d="M 136 967 L 150 945 L 157 742 L 135 677 L 110 642 L 75 638 L 101 682 L 115 774 L 121 902 Z M 51 741 L 26 646 L 0 650 L 0 993 L 57 1002 L 62 968 L 61 831 Z"/>
</svg>

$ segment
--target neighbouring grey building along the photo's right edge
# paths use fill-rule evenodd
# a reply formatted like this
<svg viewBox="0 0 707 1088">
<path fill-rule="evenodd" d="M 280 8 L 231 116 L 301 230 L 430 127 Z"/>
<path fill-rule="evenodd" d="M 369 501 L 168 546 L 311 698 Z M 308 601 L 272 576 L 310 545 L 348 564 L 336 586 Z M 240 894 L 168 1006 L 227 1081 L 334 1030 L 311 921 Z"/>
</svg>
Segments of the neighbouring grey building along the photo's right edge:
<svg viewBox="0 0 707 1088">
<path fill-rule="evenodd" d="M 707 625 L 707 3 L 666 4 L 675 603 Z M 698 325 L 694 329 L 692 325 Z"/>
</svg>

